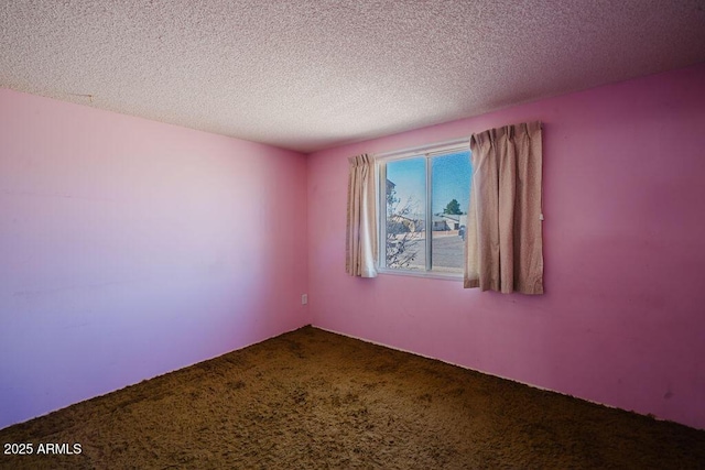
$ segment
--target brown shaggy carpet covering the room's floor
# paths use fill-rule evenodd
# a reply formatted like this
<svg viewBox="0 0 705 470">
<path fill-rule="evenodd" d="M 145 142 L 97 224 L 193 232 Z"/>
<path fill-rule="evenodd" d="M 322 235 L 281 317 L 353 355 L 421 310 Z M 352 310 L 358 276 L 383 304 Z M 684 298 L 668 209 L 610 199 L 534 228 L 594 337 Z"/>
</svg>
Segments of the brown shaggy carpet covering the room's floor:
<svg viewBox="0 0 705 470">
<path fill-rule="evenodd" d="M 705 468 L 705 431 L 311 327 L 11 426 L 0 442 L 33 444 L 0 456 L 11 469 Z M 47 442 L 82 452 L 36 455 Z"/>
</svg>

